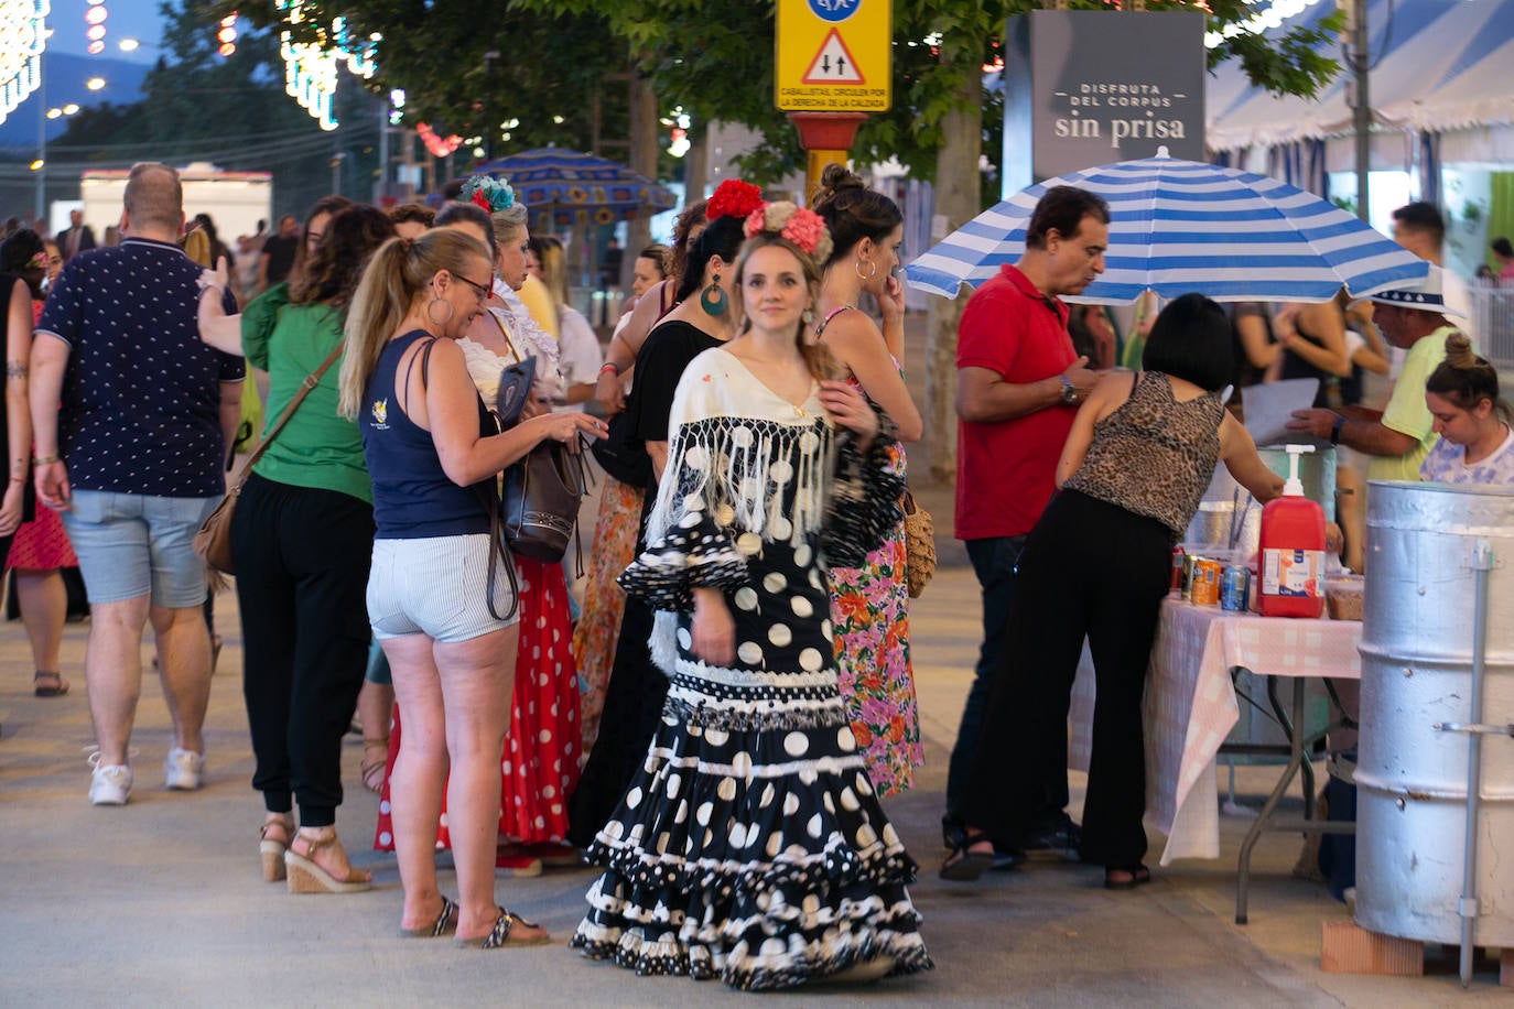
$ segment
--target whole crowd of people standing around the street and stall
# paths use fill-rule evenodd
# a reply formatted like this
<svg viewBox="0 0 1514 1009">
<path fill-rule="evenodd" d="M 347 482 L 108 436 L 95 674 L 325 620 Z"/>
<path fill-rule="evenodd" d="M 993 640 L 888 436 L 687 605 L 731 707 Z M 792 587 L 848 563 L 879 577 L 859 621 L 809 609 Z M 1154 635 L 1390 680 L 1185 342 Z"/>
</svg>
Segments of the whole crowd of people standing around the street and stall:
<svg viewBox="0 0 1514 1009">
<path fill-rule="evenodd" d="M 509 182 L 456 195 L 327 197 L 227 247 L 206 215 L 186 233 L 177 174 L 144 163 L 117 242 L 94 248 L 76 219 L 56 244 L 17 228 L 0 245 L 0 551 L 39 697 L 70 691 L 59 572 L 83 575 L 89 800 L 130 799 L 148 625 L 165 785 L 203 782 L 215 579 L 192 542 L 253 442 L 230 548 L 263 879 L 372 886 L 338 835 L 356 716 L 404 938 L 548 942 L 498 880 L 586 859 L 568 942 L 639 974 L 762 989 L 928 970 L 917 864 L 884 809 L 924 762 L 901 504 L 925 425 L 902 372 L 898 204 L 840 165 L 807 207 L 727 180 L 671 248 L 637 251 L 601 349 L 563 242 L 530 233 Z M 1410 248 L 1431 233 L 1426 259 L 1431 213 L 1399 218 Z M 1497 374 L 1449 321 L 1441 271 L 1367 313 L 1185 295 L 1148 306 L 1122 348 L 1061 301 L 1102 272 L 1107 225 L 1099 197 L 1051 189 L 960 322 L 955 536 L 983 644 L 948 767 L 952 880 L 1034 849 L 1111 889 L 1151 879 L 1140 697 L 1169 549 L 1217 463 L 1258 501 L 1281 492 L 1226 389 L 1317 377 L 1290 427 L 1369 457 L 1367 475 L 1514 483 Z M 254 413 L 248 365 L 266 374 Z M 1372 411 L 1360 378 L 1379 371 L 1396 381 Z M 507 402 L 521 372 L 530 392 Z M 500 531 L 501 473 L 542 451 L 603 477 L 598 511 L 572 516 L 581 593 L 571 557 Z M 1078 824 L 1084 638 L 1099 690 Z"/>
</svg>

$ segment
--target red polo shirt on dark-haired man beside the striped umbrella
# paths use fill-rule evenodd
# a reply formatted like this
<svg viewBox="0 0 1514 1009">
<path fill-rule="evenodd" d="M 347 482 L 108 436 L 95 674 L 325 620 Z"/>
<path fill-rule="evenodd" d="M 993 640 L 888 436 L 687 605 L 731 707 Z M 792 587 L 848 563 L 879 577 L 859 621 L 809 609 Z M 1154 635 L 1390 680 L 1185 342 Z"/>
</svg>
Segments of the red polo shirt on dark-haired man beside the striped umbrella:
<svg viewBox="0 0 1514 1009">
<path fill-rule="evenodd" d="M 987 368 L 1004 381 L 1042 381 L 1078 360 L 1067 306 L 1043 295 L 1011 265 L 967 300 L 957 324 L 957 368 Z M 1078 414 L 1073 405 L 1013 421 L 957 421 L 957 539 L 1025 536 L 1055 490 L 1057 460 Z"/>
</svg>

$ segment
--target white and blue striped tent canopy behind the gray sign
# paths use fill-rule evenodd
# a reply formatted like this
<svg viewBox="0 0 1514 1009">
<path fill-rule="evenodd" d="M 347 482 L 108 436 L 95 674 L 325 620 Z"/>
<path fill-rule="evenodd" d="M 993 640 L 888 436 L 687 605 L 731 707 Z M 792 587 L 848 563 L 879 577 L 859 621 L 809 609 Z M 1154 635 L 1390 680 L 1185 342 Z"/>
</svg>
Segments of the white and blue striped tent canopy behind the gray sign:
<svg viewBox="0 0 1514 1009">
<path fill-rule="evenodd" d="M 1329 3 L 1317 3 L 1299 18 L 1319 21 L 1329 11 Z M 1478 138 L 1458 138 L 1456 147 L 1466 148 L 1459 153 L 1503 160 L 1497 156 L 1508 153 L 1508 141 L 1485 127 L 1506 133 L 1497 127 L 1514 123 L 1514 0 L 1370 0 L 1367 26 L 1369 98 L 1379 129 L 1478 129 Z M 1341 59 L 1335 45 L 1329 54 Z M 1235 61 L 1226 62 L 1207 88 L 1208 145 L 1235 151 L 1347 135 L 1349 77 L 1341 73 L 1316 98 L 1276 97 L 1254 88 Z M 1378 157 L 1397 160 L 1391 148 L 1379 147 Z M 1455 154 L 1443 150 L 1441 157 Z"/>
</svg>

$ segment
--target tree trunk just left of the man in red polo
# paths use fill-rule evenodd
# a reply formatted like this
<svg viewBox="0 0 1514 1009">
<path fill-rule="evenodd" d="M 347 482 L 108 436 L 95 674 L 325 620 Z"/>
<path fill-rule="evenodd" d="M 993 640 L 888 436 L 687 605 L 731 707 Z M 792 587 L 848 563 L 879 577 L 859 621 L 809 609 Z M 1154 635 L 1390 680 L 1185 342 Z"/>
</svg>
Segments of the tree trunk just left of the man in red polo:
<svg viewBox="0 0 1514 1009">
<path fill-rule="evenodd" d="M 945 59 L 945 47 L 943 47 Z M 972 62 L 969 51 L 958 54 Z M 978 213 L 983 154 L 983 85 L 964 74 L 957 101 L 942 120 L 936 154 L 931 242 L 939 242 Z M 925 430 L 930 431 L 930 473 L 936 483 L 957 477 L 957 319 L 967 296 L 931 296 L 925 336 Z"/>
</svg>

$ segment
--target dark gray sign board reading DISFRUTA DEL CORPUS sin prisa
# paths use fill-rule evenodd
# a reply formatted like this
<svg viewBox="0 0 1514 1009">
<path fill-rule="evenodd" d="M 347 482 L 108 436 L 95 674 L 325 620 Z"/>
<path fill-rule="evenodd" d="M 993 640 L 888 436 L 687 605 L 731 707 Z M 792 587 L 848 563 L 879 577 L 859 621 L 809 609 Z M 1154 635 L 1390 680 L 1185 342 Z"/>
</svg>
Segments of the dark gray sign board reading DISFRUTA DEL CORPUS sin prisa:
<svg viewBox="0 0 1514 1009">
<path fill-rule="evenodd" d="M 1204 160 L 1204 15 L 1031 11 L 1004 33 L 1002 194 L 1151 157 Z"/>
</svg>

